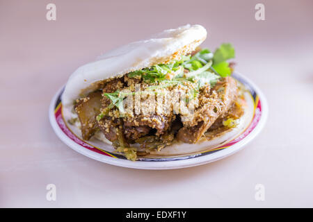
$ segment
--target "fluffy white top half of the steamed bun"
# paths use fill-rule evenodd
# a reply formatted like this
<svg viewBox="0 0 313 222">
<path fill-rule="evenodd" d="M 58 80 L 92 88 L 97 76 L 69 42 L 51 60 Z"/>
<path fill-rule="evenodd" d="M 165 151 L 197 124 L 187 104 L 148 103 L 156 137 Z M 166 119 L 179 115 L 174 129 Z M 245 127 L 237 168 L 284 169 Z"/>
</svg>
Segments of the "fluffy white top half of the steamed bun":
<svg viewBox="0 0 313 222">
<path fill-rule="evenodd" d="M 73 101 L 94 91 L 99 81 L 179 59 L 194 51 L 206 37 L 207 31 L 203 26 L 188 24 L 113 49 L 99 56 L 95 62 L 74 71 L 67 80 L 62 104 L 65 107 L 72 106 Z"/>
</svg>

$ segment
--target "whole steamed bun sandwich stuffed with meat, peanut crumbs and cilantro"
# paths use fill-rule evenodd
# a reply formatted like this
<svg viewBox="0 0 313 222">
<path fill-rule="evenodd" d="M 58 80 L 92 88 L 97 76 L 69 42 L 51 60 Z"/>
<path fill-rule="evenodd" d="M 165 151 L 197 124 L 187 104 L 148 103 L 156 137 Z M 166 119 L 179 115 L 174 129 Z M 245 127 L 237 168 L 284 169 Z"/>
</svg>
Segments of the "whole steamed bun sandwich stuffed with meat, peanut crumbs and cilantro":
<svg viewBox="0 0 313 222">
<path fill-rule="evenodd" d="M 129 160 L 230 132 L 244 112 L 227 62 L 234 48 L 201 49 L 206 37 L 200 25 L 181 26 L 79 67 L 63 92 L 65 119 Z"/>
</svg>

